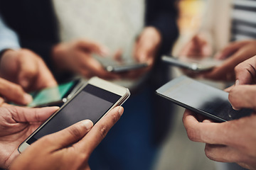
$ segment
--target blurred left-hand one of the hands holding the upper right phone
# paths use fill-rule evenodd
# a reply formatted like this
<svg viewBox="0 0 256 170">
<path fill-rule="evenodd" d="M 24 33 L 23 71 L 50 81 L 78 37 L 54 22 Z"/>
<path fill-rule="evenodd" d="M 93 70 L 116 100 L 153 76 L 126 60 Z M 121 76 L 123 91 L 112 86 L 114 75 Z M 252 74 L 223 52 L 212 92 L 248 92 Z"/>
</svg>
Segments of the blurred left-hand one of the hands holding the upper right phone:
<svg viewBox="0 0 256 170">
<path fill-rule="evenodd" d="M 189 57 L 193 59 L 203 59 L 213 54 L 213 47 L 210 38 L 206 34 L 201 33 L 193 36 L 191 40 L 182 48 L 181 57 Z"/>
</svg>

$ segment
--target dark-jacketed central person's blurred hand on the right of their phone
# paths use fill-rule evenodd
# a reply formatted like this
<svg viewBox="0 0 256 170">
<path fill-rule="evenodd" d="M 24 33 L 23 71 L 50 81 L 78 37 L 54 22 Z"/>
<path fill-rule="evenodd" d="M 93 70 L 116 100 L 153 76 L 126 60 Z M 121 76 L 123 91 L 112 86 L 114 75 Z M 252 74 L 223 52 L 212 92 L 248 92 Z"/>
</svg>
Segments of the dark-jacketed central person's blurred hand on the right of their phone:
<svg viewBox="0 0 256 170">
<path fill-rule="evenodd" d="M 122 77 L 137 79 L 143 74 L 149 72 L 156 59 L 156 52 L 161 44 L 161 34 L 154 27 L 146 27 L 134 44 L 134 59 L 137 62 L 146 62 L 148 67 L 127 72 Z"/>
</svg>

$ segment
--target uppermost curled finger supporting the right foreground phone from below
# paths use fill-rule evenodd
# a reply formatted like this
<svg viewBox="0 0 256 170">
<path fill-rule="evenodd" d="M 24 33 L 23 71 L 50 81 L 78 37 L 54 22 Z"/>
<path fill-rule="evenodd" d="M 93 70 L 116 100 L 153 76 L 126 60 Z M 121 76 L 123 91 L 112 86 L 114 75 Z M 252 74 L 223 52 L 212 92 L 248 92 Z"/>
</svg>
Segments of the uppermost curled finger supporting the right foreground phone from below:
<svg viewBox="0 0 256 170">
<path fill-rule="evenodd" d="M 229 144 L 229 123 L 200 123 L 191 111 L 186 110 L 183 115 L 183 124 L 188 138 L 194 142 L 208 144 Z"/>
</svg>

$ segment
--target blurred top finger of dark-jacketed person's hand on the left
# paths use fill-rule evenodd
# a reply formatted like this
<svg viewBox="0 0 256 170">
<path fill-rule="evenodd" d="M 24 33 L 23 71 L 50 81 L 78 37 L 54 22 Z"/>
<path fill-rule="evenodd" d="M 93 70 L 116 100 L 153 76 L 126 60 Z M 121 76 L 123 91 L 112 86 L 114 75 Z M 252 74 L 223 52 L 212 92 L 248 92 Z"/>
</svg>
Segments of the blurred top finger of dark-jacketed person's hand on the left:
<svg viewBox="0 0 256 170">
<path fill-rule="evenodd" d="M 80 47 L 82 50 L 86 50 L 89 52 L 96 52 L 99 55 L 107 56 L 110 54 L 107 47 L 100 45 L 97 42 L 92 42 L 89 40 L 79 40 L 77 42 L 78 47 Z"/>
</svg>

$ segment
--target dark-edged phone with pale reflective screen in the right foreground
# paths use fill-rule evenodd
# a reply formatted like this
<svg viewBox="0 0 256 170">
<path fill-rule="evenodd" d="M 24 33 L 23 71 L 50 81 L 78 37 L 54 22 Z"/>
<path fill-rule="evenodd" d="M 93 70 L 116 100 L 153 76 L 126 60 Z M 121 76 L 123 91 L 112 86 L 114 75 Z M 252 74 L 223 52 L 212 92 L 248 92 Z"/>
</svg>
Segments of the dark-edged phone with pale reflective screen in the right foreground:
<svg viewBox="0 0 256 170">
<path fill-rule="evenodd" d="M 242 108 L 235 111 L 228 101 L 228 93 L 186 76 L 169 81 L 156 90 L 156 94 L 169 99 L 183 108 L 205 115 L 215 122 L 235 120 L 253 111 Z"/>
</svg>

